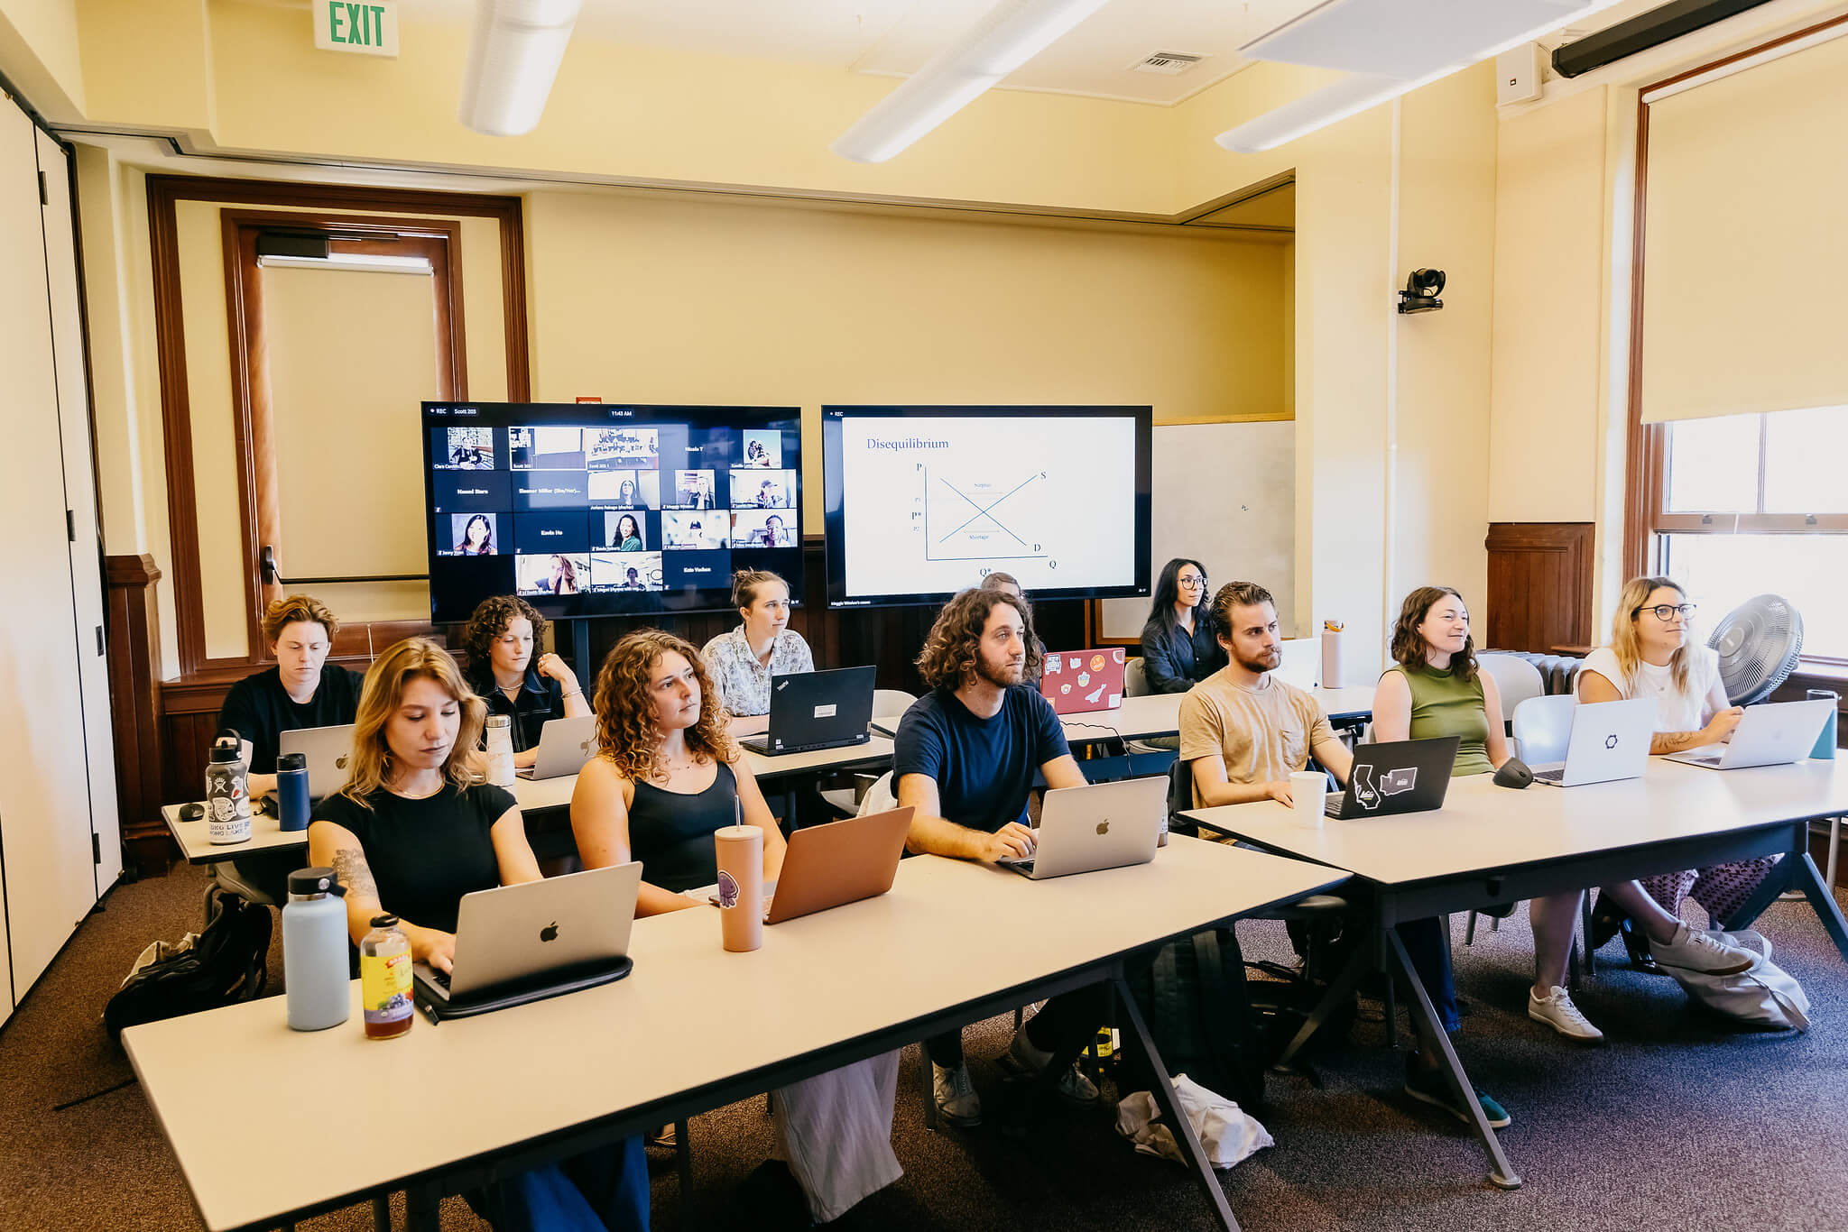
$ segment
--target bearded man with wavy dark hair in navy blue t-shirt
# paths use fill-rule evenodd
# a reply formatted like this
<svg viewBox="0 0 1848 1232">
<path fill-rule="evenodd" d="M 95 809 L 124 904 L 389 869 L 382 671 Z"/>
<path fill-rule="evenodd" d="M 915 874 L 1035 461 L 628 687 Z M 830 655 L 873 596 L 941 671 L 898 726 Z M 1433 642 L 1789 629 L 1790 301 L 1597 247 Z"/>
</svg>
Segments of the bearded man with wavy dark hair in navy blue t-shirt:
<svg viewBox="0 0 1848 1232">
<path fill-rule="evenodd" d="M 1027 792 L 1035 770 L 1048 787 L 1083 787 L 1052 704 L 1031 685 L 1040 650 L 1033 617 L 991 589 L 952 598 L 924 639 L 918 672 L 931 691 L 898 722 L 893 785 L 915 809 L 906 846 L 954 859 L 1033 853 Z M 1024 888 L 1024 887 L 1022 887 Z M 1037 1073 L 1055 1053 L 1090 1038 L 1103 1018 L 1096 990 L 1053 997 L 1015 1034 L 1003 1064 Z M 937 1110 L 952 1125 L 979 1125 L 981 1097 L 963 1064 L 963 1033 L 926 1042 Z M 1077 1068 L 1059 1077 L 1076 1105 L 1098 1101 Z"/>
</svg>

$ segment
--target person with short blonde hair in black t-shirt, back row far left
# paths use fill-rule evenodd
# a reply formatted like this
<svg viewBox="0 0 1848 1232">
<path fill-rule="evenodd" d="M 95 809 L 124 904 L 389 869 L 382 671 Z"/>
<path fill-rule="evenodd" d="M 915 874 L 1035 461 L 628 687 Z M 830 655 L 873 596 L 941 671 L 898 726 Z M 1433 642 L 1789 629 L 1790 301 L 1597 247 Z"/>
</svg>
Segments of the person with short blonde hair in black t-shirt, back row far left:
<svg viewBox="0 0 1848 1232">
<path fill-rule="evenodd" d="M 327 661 L 340 621 L 312 595 L 288 595 L 262 611 L 262 639 L 275 667 L 231 685 L 218 726 L 237 731 L 249 767 L 249 794 L 275 791 L 283 731 L 338 728 L 359 709 L 360 674 Z"/>
</svg>

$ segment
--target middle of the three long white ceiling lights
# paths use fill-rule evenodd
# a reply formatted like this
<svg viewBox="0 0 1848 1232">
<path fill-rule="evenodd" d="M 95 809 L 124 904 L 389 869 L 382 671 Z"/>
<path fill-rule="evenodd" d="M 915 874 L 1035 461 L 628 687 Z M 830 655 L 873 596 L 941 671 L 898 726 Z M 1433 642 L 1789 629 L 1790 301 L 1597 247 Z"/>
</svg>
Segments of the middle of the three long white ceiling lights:
<svg viewBox="0 0 1848 1232">
<path fill-rule="evenodd" d="M 885 163 L 1105 4 L 1002 0 L 828 148 L 854 163 Z"/>
</svg>

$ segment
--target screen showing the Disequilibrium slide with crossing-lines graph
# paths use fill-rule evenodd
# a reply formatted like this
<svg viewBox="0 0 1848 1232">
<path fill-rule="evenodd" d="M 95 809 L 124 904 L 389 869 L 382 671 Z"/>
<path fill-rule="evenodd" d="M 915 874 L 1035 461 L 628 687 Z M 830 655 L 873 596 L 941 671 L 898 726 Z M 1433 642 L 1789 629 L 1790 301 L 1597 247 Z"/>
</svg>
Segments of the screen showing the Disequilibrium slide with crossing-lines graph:
<svg viewBox="0 0 1848 1232">
<path fill-rule="evenodd" d="M 1149 406 L 822 406 L 828 604 L 1149 593 Z"/>
</svg>

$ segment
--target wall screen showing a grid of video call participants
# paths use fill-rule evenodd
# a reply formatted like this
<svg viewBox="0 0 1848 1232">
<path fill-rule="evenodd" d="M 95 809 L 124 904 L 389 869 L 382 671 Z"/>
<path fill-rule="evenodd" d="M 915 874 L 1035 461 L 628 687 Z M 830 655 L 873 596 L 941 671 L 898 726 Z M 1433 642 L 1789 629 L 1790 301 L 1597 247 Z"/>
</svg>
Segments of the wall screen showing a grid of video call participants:
<svg viewBox="0 0 1848 1232">
<path fill-rule="evenodd" d="M 802 602 L 795 406 L 423 403 L 423 443 L 434 622 L 728 610 L 736 569 Z"/>
</svg>

